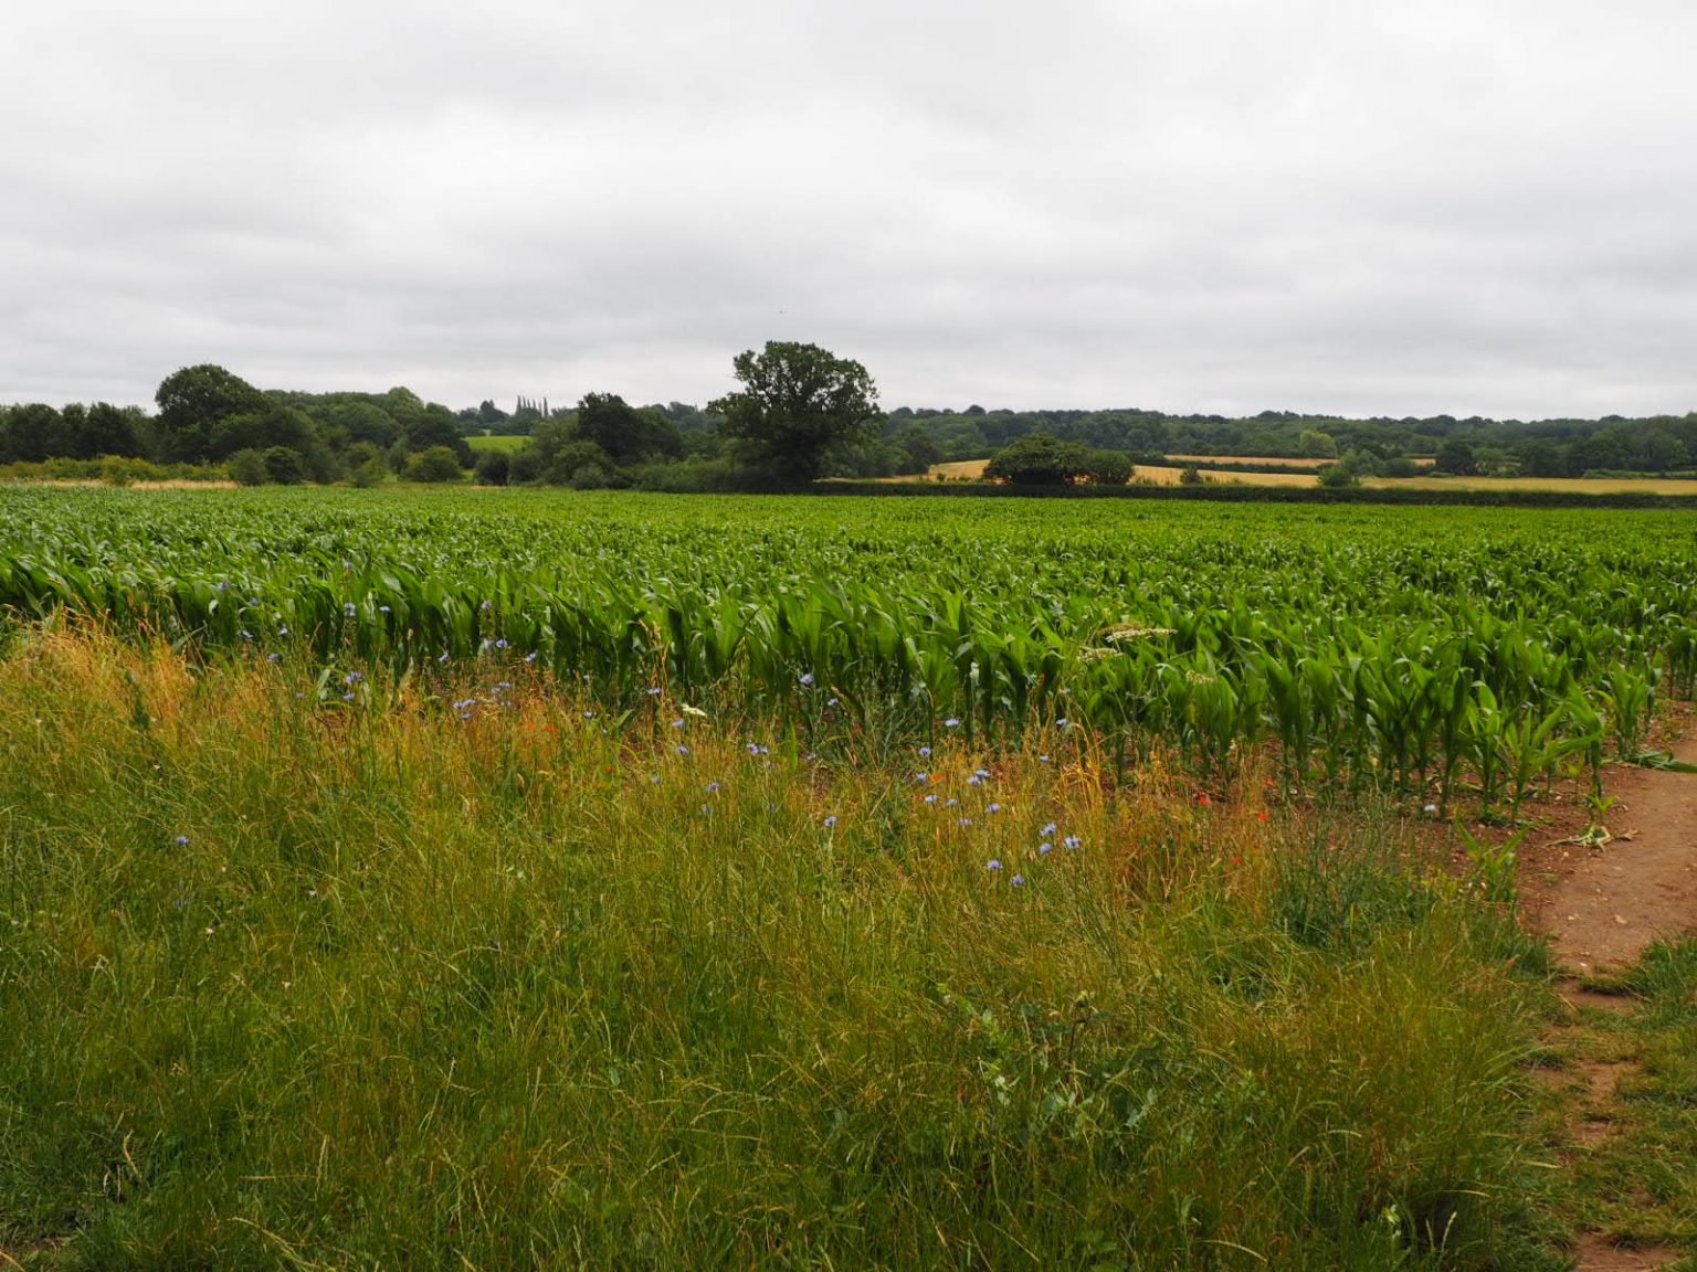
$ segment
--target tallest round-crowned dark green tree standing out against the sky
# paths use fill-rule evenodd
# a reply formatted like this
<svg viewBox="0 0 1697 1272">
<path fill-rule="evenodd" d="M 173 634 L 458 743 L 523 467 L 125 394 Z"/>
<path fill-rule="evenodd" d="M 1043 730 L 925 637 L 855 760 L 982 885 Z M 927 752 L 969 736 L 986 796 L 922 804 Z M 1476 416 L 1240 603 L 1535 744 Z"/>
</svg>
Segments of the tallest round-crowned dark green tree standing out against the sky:
<svg viewBox="0 0 1697 1272">
<path fill-rule="evenodd" d="M 877 387 L 867 370 L 818 344 L 767 341 L 731 361 L 740 392 L 708 405 L 740 456 L 782 487 L 801 487 L 825 471 L 835 446 L 877 422 Z"/>
</svg>

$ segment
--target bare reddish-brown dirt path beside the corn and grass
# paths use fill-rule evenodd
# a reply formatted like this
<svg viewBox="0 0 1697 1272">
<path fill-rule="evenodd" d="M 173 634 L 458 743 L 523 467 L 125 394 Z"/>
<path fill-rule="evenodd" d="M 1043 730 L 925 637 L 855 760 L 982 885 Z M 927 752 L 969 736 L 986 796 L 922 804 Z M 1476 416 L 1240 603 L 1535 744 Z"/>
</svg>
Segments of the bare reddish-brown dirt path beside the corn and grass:
<svg viewBox="0 0 1697 1272">
<path fill-rule="evenodd" d="M 1697 763 L 1690 729 L 1673 755 Z M 1587 1011 L 1629 1009 L 1627 999 L 1588 989 L 1585 979 L 1631 965 L 1658 936 L 1697 931 L 1697 773 L 1614 768 L 1605 789 L 1616 801 L 1600 817 L 1609 838 L 1568 824 L 1534 841 L 1524 858 L 1529 916 L 1573 974 L 1560 985 L 1575 1016 L 1553 1040 L 1568 1043 L 1563 1050 L 1571 1050 L 1571 1031 Z M 1583 1084 L 1570 1114 L 1575 1152 L 1614 1133 L 1616 1087 L 1638 1070 L 1636 1058 L 1573 1062 L 1570 1072 Z M 1587 1231 L 1575 1240 L 1573 1260 L 1577 1272 L 1658 1272 L 1680 1255 L 1663 1247 L 1624 1248 Z"/>
</svg>

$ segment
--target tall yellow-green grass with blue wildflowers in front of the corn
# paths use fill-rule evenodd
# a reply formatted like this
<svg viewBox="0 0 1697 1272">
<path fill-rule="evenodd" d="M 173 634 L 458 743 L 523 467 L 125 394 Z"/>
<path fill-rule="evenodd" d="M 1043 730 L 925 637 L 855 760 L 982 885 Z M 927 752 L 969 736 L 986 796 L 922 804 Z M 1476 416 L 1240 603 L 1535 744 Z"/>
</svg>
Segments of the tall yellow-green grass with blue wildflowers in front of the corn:
<svg viewBox="0 0 1697 1272">
<path fill-rule="evenodd" d="M 1526 946 L 1393 823 L 370 675 L 0 661 L 0 1248 L 1537 1265 Z"/>
</svg>

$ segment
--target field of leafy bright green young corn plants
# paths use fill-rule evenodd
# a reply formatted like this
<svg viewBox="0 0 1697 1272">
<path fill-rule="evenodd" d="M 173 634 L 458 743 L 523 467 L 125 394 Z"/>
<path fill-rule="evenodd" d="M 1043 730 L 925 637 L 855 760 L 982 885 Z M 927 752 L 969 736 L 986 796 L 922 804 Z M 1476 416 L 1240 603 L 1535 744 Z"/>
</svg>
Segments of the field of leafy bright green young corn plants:
<svg viewBox="0 0 1697 1272">
<path fill-rule="evenodd" d="M 1638 753 L 1658 695 L 1697 687 L 1697 546 L 1660 514 L 5 500 L 0 605 L 25 621 L 394 675 L 528 661 L 626 711 L 662 690 L 806 729 L 996 741 L 1069 721 L 1217 782 L 1276 739 L 1298 785 L 1448 806 L 1466 782 L 1519 806 Z"/>
</svg>

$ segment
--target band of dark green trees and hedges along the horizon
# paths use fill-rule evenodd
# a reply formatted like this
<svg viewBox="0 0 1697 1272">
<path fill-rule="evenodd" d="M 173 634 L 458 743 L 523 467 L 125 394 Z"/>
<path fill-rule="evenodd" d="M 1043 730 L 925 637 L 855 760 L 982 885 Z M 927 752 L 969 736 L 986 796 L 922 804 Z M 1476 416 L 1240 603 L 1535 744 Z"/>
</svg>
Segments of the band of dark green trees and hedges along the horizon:
<svg viewBox="0 0 1697 1272">
<path fill-rule="evenodd" d="M 1697 412 L 1541 421 L 981 405 L 886 412 L 859 363 L 816 346 L 748 351 L 736 360 L 736 373 L 742 392 L 699 407 L 633 405 L 597 392 L 572 405 L 516 397 L 511 409 L 492 399 L 450 409 L 407 388 L 261 390 L 226 368 L 202 365 L 166 377 L 153 409 L 0 405 L 0 465 L 14 477 L 217 475 L 251 485 L 375 485 L 402 477 L 736 490 L 787 488 L 818 477 L 923 473 L 942 461 L 993 456 L 1003 463 L 1000 471 L 1015 471 L 1008 456 L 1061 453 L 1073 456 L 1076 473 L 1095 475 L 1084 480 L 1115 480 L 1130 463 L 1164 456 L 1217 456 L 1227 465 L 1246 458 L 1325 460 L 1346 477 L 1412 475 L 1422 461 L 1461 475 L 1697 478 Z M 485 441 L 473 449 L 479 438 Z M 506 441 L 492 444 L 489 438 Z"/>
</svg>

